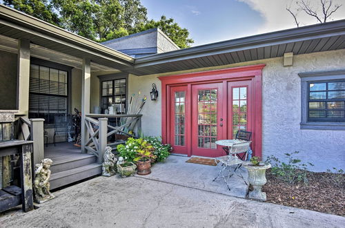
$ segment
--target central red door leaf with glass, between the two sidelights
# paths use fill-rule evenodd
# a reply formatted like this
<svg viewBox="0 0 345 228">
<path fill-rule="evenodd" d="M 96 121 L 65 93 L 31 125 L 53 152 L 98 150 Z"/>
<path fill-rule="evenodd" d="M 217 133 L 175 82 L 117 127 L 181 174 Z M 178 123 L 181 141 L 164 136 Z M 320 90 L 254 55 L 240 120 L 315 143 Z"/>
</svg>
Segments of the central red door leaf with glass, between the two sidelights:
<svg viewBox="0 0 345 228">
<path fill-rule="evenodd" d="M 217 157 L 224 154 L 217 140 L 223 136 L 223 93 L 222 83 L 192 86 L 192 155 Z"/>
</svg>

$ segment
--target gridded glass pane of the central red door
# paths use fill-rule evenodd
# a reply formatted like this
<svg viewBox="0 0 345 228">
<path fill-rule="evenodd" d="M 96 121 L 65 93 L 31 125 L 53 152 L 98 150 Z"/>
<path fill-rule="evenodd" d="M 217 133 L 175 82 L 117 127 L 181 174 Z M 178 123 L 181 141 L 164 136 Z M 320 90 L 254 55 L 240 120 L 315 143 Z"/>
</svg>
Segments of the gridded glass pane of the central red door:
<svg viewBox="0 0 345 228">
<path fill-rule="evenodd" d="M 217 89 L 198 91 L 198 147 L 217 149 Z"/>
</svg>

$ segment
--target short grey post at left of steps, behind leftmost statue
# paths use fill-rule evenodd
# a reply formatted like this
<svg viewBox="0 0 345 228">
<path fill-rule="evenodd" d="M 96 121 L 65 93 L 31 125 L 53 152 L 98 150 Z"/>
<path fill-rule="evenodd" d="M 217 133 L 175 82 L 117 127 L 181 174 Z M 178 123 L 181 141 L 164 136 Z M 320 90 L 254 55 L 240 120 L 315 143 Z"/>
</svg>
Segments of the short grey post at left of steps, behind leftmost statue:
<svg viewBox="0 0 345 228">
<path fill-rule="evenodd" d="M 31 140 L 33 144 L 34 164 L 38 164 L 44 158 L 44 119 L 30 119 L 31 122 Z"/>
</svg>

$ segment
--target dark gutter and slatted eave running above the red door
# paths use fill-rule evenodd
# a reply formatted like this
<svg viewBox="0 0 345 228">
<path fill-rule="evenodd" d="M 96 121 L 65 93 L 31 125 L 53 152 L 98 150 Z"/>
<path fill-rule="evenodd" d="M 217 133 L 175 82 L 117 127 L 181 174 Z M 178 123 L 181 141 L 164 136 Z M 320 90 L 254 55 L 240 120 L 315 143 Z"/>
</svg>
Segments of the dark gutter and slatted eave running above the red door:
<svg viewBox="0 0 345 228">
<path fill-rule="evenodd" d="M 301 55 L 345 48 L 345 20 L 221 41 L 168 53 L 139 57 L 135 75 L 167 73 L 244 61 Z"/>
</svg>

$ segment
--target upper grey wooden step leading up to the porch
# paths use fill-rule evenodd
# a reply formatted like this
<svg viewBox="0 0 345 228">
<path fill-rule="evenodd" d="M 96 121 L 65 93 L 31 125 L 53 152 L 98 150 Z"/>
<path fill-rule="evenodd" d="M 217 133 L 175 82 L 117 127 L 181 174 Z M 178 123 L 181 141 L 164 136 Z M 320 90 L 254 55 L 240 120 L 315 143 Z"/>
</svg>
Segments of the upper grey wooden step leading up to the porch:
<svg viewBox="0 0 345 228">
<path fill-rule="evenodd" d="M 52 171 L 52 173 L 59 173 L 62 171 L 75 169 L 77 167 L 83 167 L 95 162 L 97 162 L 97 157 L 95 155 L 86 153 L 72 153 L 70 155 L 65 155 L 64 157 L 53 160 L 50 171 Z"/>
</svg>

